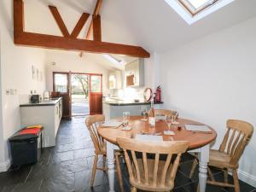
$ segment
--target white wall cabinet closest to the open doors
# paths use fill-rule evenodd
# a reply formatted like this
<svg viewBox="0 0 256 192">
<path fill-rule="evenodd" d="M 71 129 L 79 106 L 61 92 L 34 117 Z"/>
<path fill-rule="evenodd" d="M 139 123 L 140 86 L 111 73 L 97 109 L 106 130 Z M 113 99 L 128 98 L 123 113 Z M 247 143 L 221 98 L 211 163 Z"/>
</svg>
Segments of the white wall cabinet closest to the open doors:
<svg viewBox="0 0 256 192">
<path fill-rule="evenodd" d="M 123 88 L 123 75 L 120 70 L 108 74 L 108 88 L 110 90 Z"/>
</svg>

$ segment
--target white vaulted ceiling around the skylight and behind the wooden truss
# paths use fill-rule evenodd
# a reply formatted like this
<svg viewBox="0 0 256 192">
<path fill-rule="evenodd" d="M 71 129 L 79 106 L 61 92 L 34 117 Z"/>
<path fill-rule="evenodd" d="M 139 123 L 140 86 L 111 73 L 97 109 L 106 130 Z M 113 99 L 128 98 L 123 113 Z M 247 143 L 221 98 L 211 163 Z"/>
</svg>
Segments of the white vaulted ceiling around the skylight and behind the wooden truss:
<svg viewBox="0 0 256 192">
<path fill-rule="evenodd" d="M 61 35 L 48 4 L 55 5 L 73 30 L 81 13 L 92 13 L 96 0 L 24 0 L 26 31 Z M 102 41 L 140 45 L 160 52 L 189 43 L 256 15 L 255 0 L 236 0 L 206 18 L 188 25 L 165 0 L 103 0 Z M 84 38 L 87 21 L 79 38 Z"/>
</svg>

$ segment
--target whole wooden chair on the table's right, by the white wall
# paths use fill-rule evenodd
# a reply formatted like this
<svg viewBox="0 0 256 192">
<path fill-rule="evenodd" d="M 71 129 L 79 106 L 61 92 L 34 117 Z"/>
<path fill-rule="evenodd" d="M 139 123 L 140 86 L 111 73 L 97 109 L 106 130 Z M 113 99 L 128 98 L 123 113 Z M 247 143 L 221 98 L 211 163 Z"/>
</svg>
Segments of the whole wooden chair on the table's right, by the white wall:
<svg viewBox="0 0 256 192">
<path fill-rule="evenodd" d="M 253 125 L 241 120 L 229 119 L 227 121 L 227 132 L 224 136 L 224 140 L 218 150 L 210 151 L 210 160 L 208 164 L 208 166 L 217 167 L 224 172 L 224 183 L 215 181 L 209 167 L 208 173 L 210 180 L 208 180 L 207 183 L 221 187 L 232 187 L 235 188 L 236 192 L 240 192 L 236 169 L 239 166 L 238 161 L 241 154 L 246 148 L 252 134 Z M 190 178 L 193 177 L 197 163 L 198 160 L 195 159 L 189 174 Z M 234 184 L 228 183 L 229 170 L 232 171 Z"/>
</svg>

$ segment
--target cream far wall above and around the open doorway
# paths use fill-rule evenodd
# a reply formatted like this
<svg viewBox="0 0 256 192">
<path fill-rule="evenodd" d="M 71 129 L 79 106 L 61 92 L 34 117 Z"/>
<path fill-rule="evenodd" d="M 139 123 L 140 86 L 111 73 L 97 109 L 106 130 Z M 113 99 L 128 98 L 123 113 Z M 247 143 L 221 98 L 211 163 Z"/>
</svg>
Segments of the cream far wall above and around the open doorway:
<svg viewBox="0 0 256 192">
<path fill-rule="evenodd" d="M 55 62 L 55 66 L 52 63 Z M 92 62 L 86 55 L 79 57 L 78 52 L 67 52 L 49 50 L 47 51 L 47 89 L 53 90 L 53 72 L 73 72 L 73 73 L 99 73 L 102 74 L 103 94 L 108 90 L 108 69 Z"/>
</svg>

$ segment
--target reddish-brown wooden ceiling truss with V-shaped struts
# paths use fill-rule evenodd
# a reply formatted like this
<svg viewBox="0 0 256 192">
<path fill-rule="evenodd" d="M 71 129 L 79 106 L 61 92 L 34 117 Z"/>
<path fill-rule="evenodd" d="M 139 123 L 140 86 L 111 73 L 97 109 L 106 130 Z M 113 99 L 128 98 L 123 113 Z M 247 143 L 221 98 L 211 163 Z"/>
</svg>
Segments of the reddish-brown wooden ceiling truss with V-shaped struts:
<svg viewBox="0 0 256 192">
<path fill-rule="evenodd" d="M 46 49 L 77 50 L 98 54 L 130 55 L 142 58 L 150 57 L 148 51 L 139 46 L 102 42 L 101 16 L 98 15 L 102 4 L 101 2 L 102 1 L 98 0 L 96 3 L 96 9 L 94 15 L 92 15 L 92 21 L 90 23 L 91 29 L 89 28 L 86 39 L 80 39 L 78 38 L 79 32 L 81 32 L 85 22 L 88 20 L 90 16 L 89 14 L 84 13 L 81 15 L 73 32 L 70 34 L 58 9 L 54 6 L 49 6 L 49 10 L 54 16 L 62 36 L 25 32 L 23 0 L 14 0 L 14 42 L 17 45 Z M 93 32 L 93 40 L 89 40 L 91 32 Z"/>
</svg>

